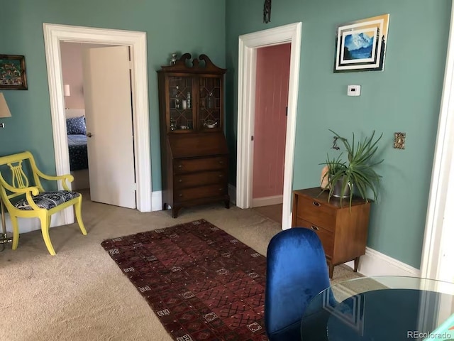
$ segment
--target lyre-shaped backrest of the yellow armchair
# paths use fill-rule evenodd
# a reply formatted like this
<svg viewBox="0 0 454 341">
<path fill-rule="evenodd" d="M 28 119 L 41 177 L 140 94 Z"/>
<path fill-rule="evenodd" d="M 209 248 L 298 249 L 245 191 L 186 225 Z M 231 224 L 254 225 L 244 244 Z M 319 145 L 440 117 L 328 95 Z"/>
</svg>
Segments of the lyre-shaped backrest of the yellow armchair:
<svg viewBox="0 0 454 341">
<path fill-rule="evenodd" d="M 13 188 L 35 186 L 40 192 L 43 191 L 35 159 L 29 151 L 0 157 L 0 193 L 2 198 L 7 201 L 23 195 L 11 193 L 8 190 L 9 186 Z"/>
</svg>

